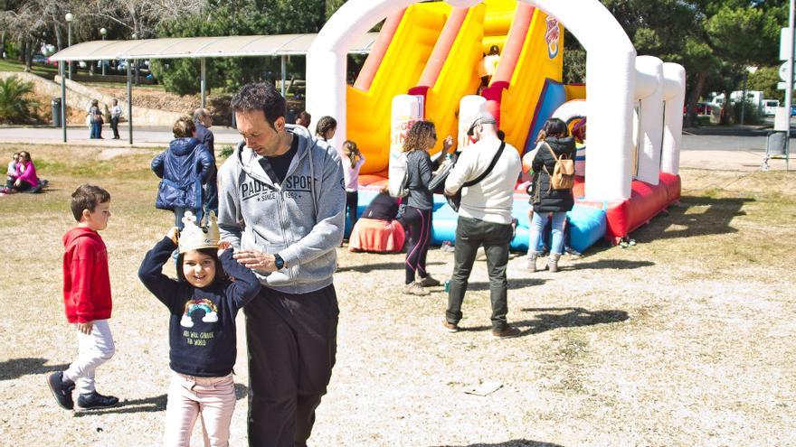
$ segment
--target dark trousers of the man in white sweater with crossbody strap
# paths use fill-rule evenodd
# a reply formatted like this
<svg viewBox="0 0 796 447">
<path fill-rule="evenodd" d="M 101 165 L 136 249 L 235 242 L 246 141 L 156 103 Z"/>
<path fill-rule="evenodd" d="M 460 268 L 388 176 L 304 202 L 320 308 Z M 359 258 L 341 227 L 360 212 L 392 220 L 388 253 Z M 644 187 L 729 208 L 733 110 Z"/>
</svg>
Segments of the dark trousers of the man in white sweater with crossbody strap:
<svg viewBox="0 0 796 447">
<path fill-rule="evenodd" d="M 458 324 L 461 320 L 461 302 L 467 292 L 469 274 L 479 246 L 483 245 L 487 254 L 489 294 L 492 299 L 492 330 L 505 331 L 508 328 L 506 265 L 510 241 L 511 225 L 459 218 L 453 253 L 453 275 L 450 277 L 448 292 L 448 311 L 445 312 L 448 322 Z"/>
</svg>

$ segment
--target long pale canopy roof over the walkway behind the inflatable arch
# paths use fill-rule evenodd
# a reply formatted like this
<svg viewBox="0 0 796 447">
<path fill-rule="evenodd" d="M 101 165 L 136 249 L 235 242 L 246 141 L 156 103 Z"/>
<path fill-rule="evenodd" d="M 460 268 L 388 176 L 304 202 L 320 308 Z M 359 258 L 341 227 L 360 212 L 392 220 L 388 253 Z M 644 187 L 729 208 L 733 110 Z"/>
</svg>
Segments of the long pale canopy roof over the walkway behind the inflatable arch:
<svg viewBox="0 0 796 447">
<path fill-rule="evenodd" d="M 379 33 L 366 33 L 349 53 L 365 54 Z M 307 54 L 317 34 L 272 36 L 166 37 L 137 41 L 81 42 L 58 51 L 51 61 L 101 61 L 113 59 L 229 58 Z"/>
</svg>

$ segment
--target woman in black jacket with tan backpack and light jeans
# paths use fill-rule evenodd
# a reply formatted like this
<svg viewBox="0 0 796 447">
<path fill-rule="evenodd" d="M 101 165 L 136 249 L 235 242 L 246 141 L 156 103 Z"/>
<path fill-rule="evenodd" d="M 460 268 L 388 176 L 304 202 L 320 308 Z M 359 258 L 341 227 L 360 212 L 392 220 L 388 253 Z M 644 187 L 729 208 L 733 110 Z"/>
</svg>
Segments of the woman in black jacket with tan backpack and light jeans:
<svg viewBox="0 0 796 447">
<path fill-rule="evenodd" d="M 534 161 L 532 168 L 534 178 L 531 182 L 531 200 L 534 217 L 531 219 L 530 235 L 528 236 L 528 257 L 526 267 L 536 271 L 536 247 L 539 244 L 543 228 L 547 225 L 552 213 L 552 241 L 547 268 L 551 272 L 558 271 L 558 260 L 564 250 L 564 224 L 566 212 L 573 209 L 572 190 L 554 190 L 550 184 L 550 172 L 553 172 L 555 160 L 562 155 L 570 160 L 575 158 L 575 142 L 564 121 L 552 118 L 545 122 L 536 138 Z M 555 155 L 554 155 L 555 154 Z"/>
</svg>

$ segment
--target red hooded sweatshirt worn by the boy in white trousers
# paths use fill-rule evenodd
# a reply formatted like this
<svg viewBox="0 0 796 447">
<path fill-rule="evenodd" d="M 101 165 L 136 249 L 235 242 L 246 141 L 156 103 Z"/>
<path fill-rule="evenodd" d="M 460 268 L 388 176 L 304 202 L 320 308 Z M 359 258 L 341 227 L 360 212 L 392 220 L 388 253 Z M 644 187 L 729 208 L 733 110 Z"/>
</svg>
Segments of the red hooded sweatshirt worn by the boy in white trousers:
<svg viewBox="0 0 796 447">
<path fill-rule="evenodd" d="M 66 319 L 88 322 L 110 318 L 108 250 L 90 228 L 71 228 L 63 235 L 63 304 Z"/>
</svg>

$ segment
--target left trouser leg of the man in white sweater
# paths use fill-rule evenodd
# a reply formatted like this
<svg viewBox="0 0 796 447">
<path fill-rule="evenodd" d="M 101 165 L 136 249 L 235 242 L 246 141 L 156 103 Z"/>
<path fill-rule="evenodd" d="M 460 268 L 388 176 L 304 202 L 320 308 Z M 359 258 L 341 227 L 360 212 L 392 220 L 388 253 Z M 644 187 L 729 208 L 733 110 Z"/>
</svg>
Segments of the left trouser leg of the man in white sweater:
<svg viewBox="0 0 796 447">
<path fill-rule="evenodd" d="M 456 225 L 456 243 L 453 250 L 453 275 L 448 289 L 448 310 L 445 320 L 458 324 L 461 320 L 461 302 L 467 292 L 469 274 L 476 260 L 481 239 L 476 234 L 476 219 L 459 218 Z"/>
</svg>

